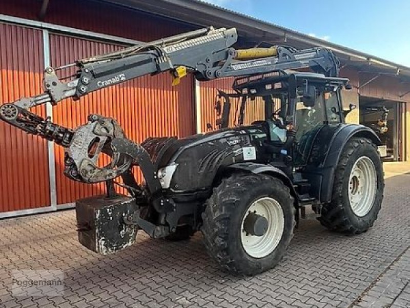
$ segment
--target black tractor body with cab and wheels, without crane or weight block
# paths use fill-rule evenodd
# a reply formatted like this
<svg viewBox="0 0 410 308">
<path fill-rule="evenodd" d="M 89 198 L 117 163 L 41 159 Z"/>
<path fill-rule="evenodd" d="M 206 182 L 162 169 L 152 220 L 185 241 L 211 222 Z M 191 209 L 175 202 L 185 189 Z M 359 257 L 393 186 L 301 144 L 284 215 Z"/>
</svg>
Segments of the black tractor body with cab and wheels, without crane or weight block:
<svg viewBox="0 0 410 308">
<path fill-rule="evenodd" d="M 300 72 L 238 79 L 234 93 L 219 91 L 220 129 L 168 139 L 168 150 L 146 147 L 166 179 L 167 198 L 196 204 L 168 238 L 188 239 L 200 229 L 222 267 L 252 275 L 280 261 L 306 206 L 331 230 L 371 227 L 383 198 L 380 141 L 371 129 L 344 123 L 344 87 L 346 79 Z M 258 98 L 264 119 L 243 126 L 247 105 Z M 229 128 L 233 99 L 241 104 Z"/>
</svg>

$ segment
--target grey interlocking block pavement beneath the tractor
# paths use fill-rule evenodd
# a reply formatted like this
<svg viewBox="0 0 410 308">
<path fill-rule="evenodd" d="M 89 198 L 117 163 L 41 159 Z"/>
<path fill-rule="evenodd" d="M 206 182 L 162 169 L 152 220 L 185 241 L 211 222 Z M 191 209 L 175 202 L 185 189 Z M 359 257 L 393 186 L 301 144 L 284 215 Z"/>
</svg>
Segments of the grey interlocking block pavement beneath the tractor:
<svg viewBox="0 0 410 308">
<path fill-rule="evenodd" d="M 379 219 L 362 235 L 301 220 L 280 264 L 255 277 L 221 271 L 200 233 L 168 242 L 140 232 L 135 245 L 105 257 L 78 243 L 74 210 L 2 220 L 0 307 L 410 308 L 409 180 L 386 180 Z M 64 295 L 11 296 L 11 270 L 30 268 L 64 271 Z"/>
</svg>

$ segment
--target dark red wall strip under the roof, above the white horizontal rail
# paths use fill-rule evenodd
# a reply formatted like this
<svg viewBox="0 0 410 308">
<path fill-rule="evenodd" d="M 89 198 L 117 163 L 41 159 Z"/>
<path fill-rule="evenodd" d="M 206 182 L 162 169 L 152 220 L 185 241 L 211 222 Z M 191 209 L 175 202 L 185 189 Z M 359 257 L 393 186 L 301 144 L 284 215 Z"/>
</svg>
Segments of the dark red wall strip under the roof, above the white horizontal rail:
<svg viewBox="0 0 410 308">
<path fill-rule="evenodd" d="M 38 20 L 42 2 L 2 1 L 0 2 L 0 13 Z M 152 41 L 194 29 L 193 26 L 167 18 L 90 0 L 52 0 L 44 22 L 139 41 Z"/>
</svg>

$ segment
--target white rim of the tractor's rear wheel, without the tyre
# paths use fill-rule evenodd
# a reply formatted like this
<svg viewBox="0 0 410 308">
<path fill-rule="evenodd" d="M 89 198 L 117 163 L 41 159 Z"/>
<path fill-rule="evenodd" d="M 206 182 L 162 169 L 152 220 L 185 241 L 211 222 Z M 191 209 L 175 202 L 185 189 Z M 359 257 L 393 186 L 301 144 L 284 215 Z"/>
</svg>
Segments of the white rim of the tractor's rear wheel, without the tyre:
<svg viewBox="0 0 410 308">
<path fill-rule="evenodd" d="M 348 198 L 356 216 L 363 217 L 371 210 L 376 198 L 377 175 L 374 163 L 367 156 L 353 165 L 349 177 Z"/>
</svg>

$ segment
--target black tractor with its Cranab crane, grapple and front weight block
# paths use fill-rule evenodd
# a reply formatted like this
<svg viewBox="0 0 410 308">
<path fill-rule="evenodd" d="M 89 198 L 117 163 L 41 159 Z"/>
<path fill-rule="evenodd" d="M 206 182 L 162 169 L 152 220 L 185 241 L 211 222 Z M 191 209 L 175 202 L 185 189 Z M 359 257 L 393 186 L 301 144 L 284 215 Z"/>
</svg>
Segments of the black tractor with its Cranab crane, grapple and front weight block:
<svg viewBox="0 0 410 308">
<path fill-rule="evenodd" d="M 66 148 L 67 177 L 106 182 L 107 195 L 76 202 L 81 244 L 110 254 L 133 244 L 139 229 L 169 240 L 201 230 L 223 268 L 254 275 L 278 264 L 308 206 L 331 230 L 360 234 L 373 225 L 384 189 L 380 140 L 370 128 L 344 123 L 341 91 L 350 86 L 338 77 L 333 52 L 235 50 L 236 39 L 235 29 L 176 35 L 77 61 L 69 82 L 47 68 L 44 94 L 0 108 L 2 120 Z M 288 70 L 300 68 L 313 72 Z M 230 93 L 219 91 L 217 130 L 137 144 L 111 118 L 91 114 L 73 130 L 28 111 L 163 71 L 175 84 L 188 71 L 197 80 L 237 76 Z M 234 126 L 232 100 L 240 101 Z M 247 106 L 261 100 L 264 117 L 243 125 Z M 111 161 L 99 166 L 103 153 Z"/>
</svg>

